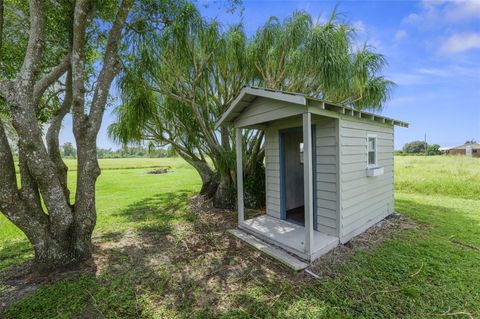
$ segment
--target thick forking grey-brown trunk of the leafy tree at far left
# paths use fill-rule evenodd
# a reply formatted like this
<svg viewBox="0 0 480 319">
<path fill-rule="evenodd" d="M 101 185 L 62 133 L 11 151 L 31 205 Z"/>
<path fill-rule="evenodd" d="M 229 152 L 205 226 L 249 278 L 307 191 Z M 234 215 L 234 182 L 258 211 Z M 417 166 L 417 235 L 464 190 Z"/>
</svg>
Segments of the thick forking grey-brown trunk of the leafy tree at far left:
<svg viewBox="0 0 480 319">
<path fill-rule="evenodd" d="M 1 3 L 0 3 L 1 4 Z M 44 1 L 30 1 L 30 31 L 23 65 L 15 80 L 0 80 L 0 98 L 10 107 L 19 136 L 21 188 L 13 155 L 0 120 L 0 211 L 20 228 L 35 252 L 35 270 L 52 271 L 79 266 L 92 257 L 92 232 L 96 223 L 95 183 L 100 174 L 96 138 L 111 83 L 118 74 L 118 45 L 133 4 L 124 0 L 109 31 L 104 64 L 89 108 L 85 107 L 85 56 L 90 0 L 75 3 L 72 55 L 36 80 L 45 40 Z M 72 64 L 70 68 L 69 64 Z M 45 90 L 67 69 L 64 103 L 54 115 L 44 144 L 36 110 Z M 75 90 L 74 90 L 75 89 Z M 67 168 L 58 150 L 58 133 L 64 116 L 74 107 L 73 131 L 78 148 L 75 204 L 69 200 Z M 89 114 L 85 114 L 89 109 Z"/>
</svg>

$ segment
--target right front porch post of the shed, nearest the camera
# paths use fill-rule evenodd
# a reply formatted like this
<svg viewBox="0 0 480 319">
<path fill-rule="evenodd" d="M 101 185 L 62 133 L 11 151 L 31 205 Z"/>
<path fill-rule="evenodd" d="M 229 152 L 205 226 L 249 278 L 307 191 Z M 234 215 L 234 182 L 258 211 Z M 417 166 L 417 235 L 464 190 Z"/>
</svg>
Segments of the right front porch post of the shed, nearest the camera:
<svg viewBox="0 0 480 319">
<path fill-rule="evenodd" d="M 310 255 L 313 244 L 313 161 L 312 115 L 303 113 L 303 187 L 305 200 L 305 253 Z"/>
</svg>

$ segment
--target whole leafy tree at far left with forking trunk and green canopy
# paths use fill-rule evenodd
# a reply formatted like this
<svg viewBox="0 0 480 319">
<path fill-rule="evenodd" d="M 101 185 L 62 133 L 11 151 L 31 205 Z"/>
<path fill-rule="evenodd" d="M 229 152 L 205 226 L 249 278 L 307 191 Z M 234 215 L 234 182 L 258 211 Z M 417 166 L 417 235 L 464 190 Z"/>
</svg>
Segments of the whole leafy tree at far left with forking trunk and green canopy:
<svg viewBox="0 0 480 319">
<path fill-rule="evenodd" d="M 121 50 L 129 48 L 121 42 L 128 39 L 125 32 L 162 27 L 169 17 L 160 11 L 173 11 L 167 4 L 15 2 L 15 10 L 5 16 L 28 22 L 28 32 L 18 32 L 25 24 L 3 21 L 2 15 L 0 60 L 6 67 L 0 72 L 0 107 L 5 114 L 0 120 L 0 211 L 31 242 L 37 270 L 78 265 L 91 258 L 100 174 L 96 138 L 110 86 L 121 69 Z M 69 112 L 77 145 L 73 203 L 58 141 Z M 21 188 L 4 121 L 11 121 L 18 136 Z"/>
</svg>

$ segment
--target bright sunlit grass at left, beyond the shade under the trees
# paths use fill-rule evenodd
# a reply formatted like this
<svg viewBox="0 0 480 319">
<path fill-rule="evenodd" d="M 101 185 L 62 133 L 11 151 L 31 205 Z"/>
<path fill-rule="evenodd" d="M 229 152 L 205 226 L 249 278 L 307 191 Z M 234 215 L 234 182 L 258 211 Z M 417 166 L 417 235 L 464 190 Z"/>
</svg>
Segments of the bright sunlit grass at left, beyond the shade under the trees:
<svg viewBox="0 0 480 319">
<path fill-rule="evenodd" d="M 140 227 L 120 212 L 141 199 L 184 191 L 193 194 L 199 189 L 200 178 L 183 160 L 175 158 L 125 158 L 99 160 L 102 174 L 97 182 L 98 220 L 95 233 L 122 231 Z M 72 201 L 75 194 L 76 162 L 66 160 Z M 168 174 L 147 174 L 155 167 L 171 167 Z M 132 167 L 138 167 L 132 169 Z M 32 257 L 25 235 L 0 214 L 0 272 Z"/>
</svg>

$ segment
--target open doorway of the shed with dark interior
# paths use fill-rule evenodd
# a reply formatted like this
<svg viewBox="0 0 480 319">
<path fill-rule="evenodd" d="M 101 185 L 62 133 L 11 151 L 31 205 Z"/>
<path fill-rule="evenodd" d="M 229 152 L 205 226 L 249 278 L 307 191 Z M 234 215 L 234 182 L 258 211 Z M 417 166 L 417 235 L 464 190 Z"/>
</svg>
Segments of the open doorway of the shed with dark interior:
<svg viewBox="0 0 480 319">
<path fill-rule="evenodd" d="M 312 130 L 312 133 L 315 130 Z M 315 145 L 315 134 L 312 146 Z M 313 147 L 315 150 L 315 147 Z M 312 152 L 315 167 L 315 152 Z M 303 171 L 303 130 L 301 127 L 280 131 L 281 211 L 282 219 L 305 226 L 305 196 Z M 314 174 L 315 176 L 315 174 Z M 315 178 L 314 178 L 315 181 Z M 315 182 L 314 182 L 315 186 Z M 314 190 L 316 187 L 314 187 Z M 314 195 L 315 197 L 315 195 Z M 315 201 L 316 202 L 316 201 Z M 316 209 L 314 207 L 314 221 Z M 316 225 L 314 224 L 314 228 Z"/>
</svg>

